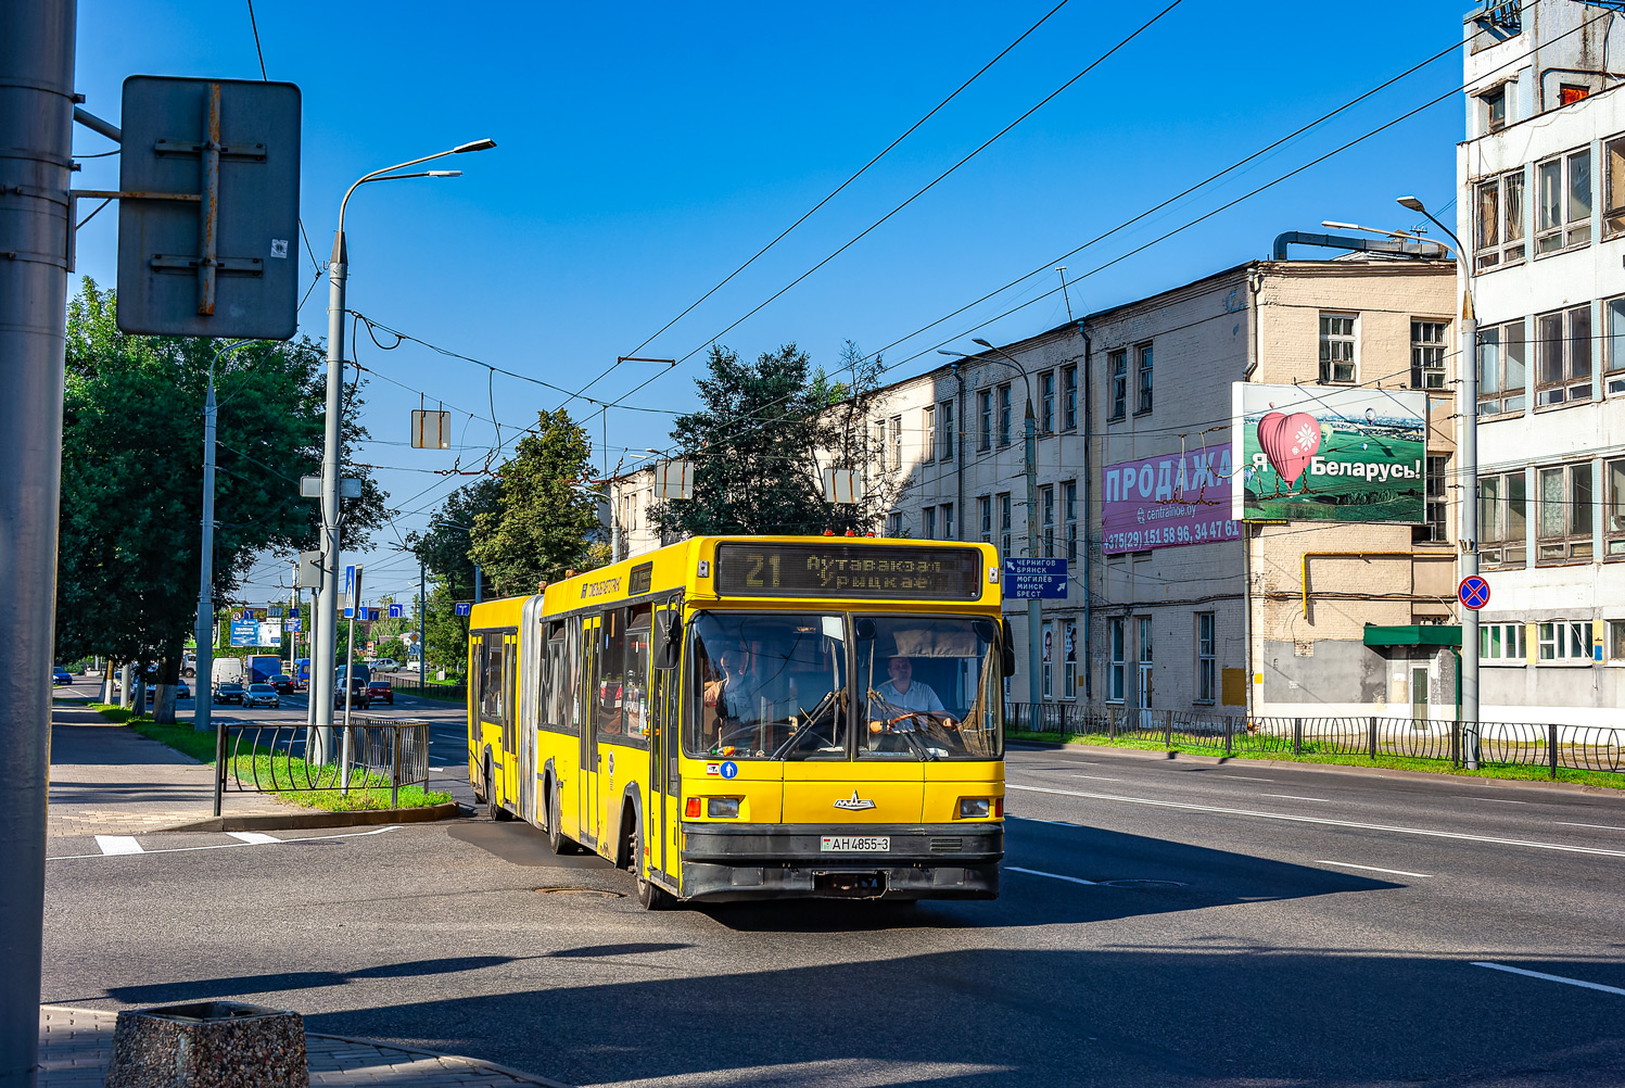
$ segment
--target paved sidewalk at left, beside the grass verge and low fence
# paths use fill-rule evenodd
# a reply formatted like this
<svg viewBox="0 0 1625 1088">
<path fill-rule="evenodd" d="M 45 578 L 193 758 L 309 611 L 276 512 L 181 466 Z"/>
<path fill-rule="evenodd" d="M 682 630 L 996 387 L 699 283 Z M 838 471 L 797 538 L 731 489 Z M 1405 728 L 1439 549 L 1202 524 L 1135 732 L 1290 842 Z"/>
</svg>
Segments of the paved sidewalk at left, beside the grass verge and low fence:
<svg viewBox="0 0 1625 1088">
<path fill-rule="evenodd" d="M 50 709 L 47 836 L 140 834 L 197 823 L 214 812 L 214 769 L 96 711 Z M 286 815 L 260 794 L 228 792 L 229 815 Z"/>
</svg>

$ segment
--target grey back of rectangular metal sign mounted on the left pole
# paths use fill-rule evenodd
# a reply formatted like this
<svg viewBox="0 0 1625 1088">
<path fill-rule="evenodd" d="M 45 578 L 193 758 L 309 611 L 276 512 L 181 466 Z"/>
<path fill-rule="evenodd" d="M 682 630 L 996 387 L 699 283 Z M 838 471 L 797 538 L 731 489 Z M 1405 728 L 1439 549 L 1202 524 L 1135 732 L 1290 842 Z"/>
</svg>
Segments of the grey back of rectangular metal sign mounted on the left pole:
<svg viewBox="0 0 1625 1088">
<path fill-rule="evenodd" d="M 133 75 L 122 124 L 119 329 L 291 338 L 299 88 Z"/>
</svg>

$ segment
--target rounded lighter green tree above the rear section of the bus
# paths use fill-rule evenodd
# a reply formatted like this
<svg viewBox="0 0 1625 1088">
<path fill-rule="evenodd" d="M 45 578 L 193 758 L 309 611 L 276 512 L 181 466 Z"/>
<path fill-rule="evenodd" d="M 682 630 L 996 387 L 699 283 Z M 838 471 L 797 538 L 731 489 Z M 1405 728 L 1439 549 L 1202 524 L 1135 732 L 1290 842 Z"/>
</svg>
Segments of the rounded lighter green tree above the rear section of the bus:
<svg viewBox="0 0 1625 1088">
<path fill-rule="evenodd" d="M 497 595 L 535 594 L 543 579 L 585 566 L 603 532 L 596 501 L 580 490 L 588 455 L 587 431 L 559 408 L 538 413 L 536 433 L 497 470 L 497 509 L 474 514 L 470 533 L 470 558 Z"/>
</svg>

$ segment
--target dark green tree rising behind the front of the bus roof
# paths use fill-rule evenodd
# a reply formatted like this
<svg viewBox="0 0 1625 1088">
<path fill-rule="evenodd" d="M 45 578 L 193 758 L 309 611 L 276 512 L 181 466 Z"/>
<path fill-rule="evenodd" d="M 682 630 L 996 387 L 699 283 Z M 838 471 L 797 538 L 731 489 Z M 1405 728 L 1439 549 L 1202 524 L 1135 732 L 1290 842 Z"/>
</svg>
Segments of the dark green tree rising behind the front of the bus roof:
<svg viewBox="0 0 1625 1088">
<path fill-rule="evenodd" d="M 879 450 L 866 439 L 882 368 L 879 358 L 864 364 L 852 342 L 842 358 L 850 382 L 812 371 L 793 343 L 754 364 L 712 346 L 710 376 L 699 382 L 704 407 L 671 431 L 694 462 L 694 498 L 655 506 L 655 524 L 686 535 L 874 530 L 895 496 L 892 473 L 878 468 Z M 863 499 L 827 503 L 827 467 L 863 472 Z"/>
</svg>

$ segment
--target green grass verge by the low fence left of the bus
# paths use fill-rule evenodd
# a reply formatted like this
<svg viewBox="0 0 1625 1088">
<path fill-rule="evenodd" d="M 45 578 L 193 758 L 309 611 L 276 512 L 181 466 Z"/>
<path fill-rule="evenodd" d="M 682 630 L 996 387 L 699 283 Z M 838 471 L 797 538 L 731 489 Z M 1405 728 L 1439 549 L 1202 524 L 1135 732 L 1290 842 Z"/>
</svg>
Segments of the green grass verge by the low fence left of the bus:
<svg viewBox="0 0 1625 1088">
<path fill-rule="evenodd" d="M 159 725 L 153 719 L 141 716 L 132 717 L 128 709 L 119 706 L 109 706 L 106 703 L 91 703 L 91 709 L 101 712 L 102 717 L 124 722 L 135 732 L 156 740 L 162 745 L 169 745 L 176 751 L 185 753 L 197 759 L 198 763 L 211 764 L 214 763 L 214 733 L 200 733 L 192 729 L 192 722 L 177 722 L 176 725 Z M 275 763 L 273 763 L 275 759 Z M 231 769 L 244 782 L 266 782 L 270 786 L 276 784 L 299 784 L 299 786 L 315 786 L 328 789 L 266 789 L 278 800 L 297 805 L 301 808 L 322 808 L 325 812 L 361 812 L 375 808 L 390 808 L 390 784 L 388 777 L 377 774 L 375 771 L 362 772 L 359 769 L 351 771 L 349 790 L 341 792 L 338 789 L 338 769 L 332 764 L 328 766 L 310 766 L 304 759 L 296 759 L 286 753 L 273 753 L 268 748 L 258 748 L 254 755 L 242 753 L 232 758 Z M 258 776 L 258 779 L 255 779 Z M 398 808 L 426 808 L 429 805 L 444 805 L 452 800 L 450 794 L 439 790 L 424 790 L 421 786 L 405 786 L 400 790 Z"/>
</svg>

